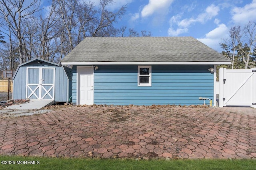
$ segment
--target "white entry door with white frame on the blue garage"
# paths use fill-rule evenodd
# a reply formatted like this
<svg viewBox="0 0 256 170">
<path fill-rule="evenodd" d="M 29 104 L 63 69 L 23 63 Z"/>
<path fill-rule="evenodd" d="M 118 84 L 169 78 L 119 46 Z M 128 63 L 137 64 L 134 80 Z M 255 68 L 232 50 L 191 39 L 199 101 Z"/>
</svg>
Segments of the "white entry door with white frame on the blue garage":
<svg viewBox="0 0 256 170">
<path fill-rule="evenodd" d="M 78 104 L 93 104 L 93 68 L 78 67 L 79 76 L 79 94 Z"/>
</svg>

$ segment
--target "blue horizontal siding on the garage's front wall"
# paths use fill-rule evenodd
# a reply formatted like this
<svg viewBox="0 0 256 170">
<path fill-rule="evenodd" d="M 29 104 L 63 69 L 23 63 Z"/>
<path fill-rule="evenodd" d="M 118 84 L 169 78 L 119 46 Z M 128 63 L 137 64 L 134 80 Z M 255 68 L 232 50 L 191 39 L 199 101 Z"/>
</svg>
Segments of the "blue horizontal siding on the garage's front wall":
<svg viewBox="0 0 256 170">
<path fill-rule="evenodd" d="M 203 104 L 199 97 L 213 99 L 214 76 L 209 67 L 152 65 L 152 86 L 138 86 L 137 65 L 99 66 L 94 71 L 94 104 Z M 73 71 L 76 80 L 76 68 Z M 75 81 L 72 89 L 76 98 Z"/>
</svg>

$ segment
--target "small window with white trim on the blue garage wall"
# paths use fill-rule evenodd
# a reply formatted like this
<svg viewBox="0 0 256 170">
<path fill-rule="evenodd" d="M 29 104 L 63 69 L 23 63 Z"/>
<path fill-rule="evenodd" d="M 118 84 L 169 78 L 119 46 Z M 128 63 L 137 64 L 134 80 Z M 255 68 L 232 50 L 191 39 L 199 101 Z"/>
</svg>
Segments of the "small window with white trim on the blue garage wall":
<svg viewBox="0 0 256 170">
<path fill-rule="evenodd" d="M 151 86 L 151 66 L 138 66 L 138 86 Z"/>
</svg>

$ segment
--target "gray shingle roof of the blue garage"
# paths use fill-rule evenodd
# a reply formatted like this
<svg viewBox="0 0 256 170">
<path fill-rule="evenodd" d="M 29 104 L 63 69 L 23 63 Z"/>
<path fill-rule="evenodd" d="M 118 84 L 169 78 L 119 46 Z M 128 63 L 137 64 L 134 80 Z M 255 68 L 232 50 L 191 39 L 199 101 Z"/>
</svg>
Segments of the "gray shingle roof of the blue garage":
<svg viewBox="0 0 256 170">
<path fill-rule="evenodd" d="M 86 37 L 61 62 L 229 62 L 193 37 Z"/>
</svg>

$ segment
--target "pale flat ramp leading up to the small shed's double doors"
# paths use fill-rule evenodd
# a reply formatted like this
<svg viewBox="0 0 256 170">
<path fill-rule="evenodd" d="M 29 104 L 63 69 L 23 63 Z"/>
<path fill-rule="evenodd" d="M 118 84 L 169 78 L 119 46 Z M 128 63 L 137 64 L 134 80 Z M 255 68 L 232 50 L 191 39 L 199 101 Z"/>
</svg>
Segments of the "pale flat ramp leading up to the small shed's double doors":
<svg viewBox="0 0 256 170">
<path fill-rule="evenodd" d="M 5 109 L 34 110 L 54 104 L 54 100 L 30 100 L 28 103 L 8 106 Z"/>
</svg>

